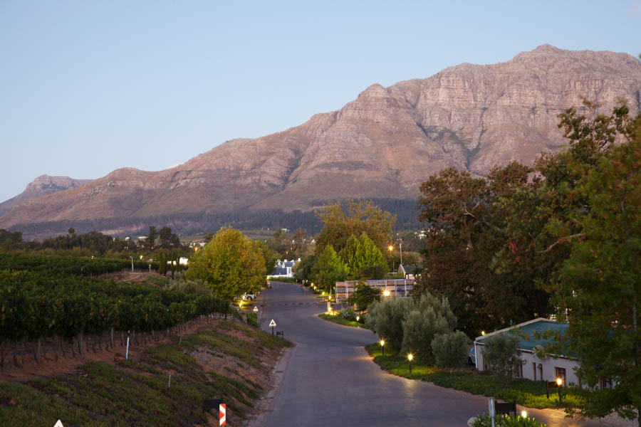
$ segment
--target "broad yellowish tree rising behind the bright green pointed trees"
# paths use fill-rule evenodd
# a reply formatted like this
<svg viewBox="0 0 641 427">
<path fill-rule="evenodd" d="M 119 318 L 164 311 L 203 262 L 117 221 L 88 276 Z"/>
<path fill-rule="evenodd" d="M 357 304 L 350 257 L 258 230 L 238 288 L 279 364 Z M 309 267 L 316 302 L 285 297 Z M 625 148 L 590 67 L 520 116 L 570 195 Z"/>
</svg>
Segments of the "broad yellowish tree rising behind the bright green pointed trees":
<svg viewBox="0 0 641 427">
<path fill-rule="evenodd" d="M 340 252 L 350 236 L 365 233 L 382 249 L 392 238 L 392 224 L 396 216 L 382 211 L 372 201 L 358 199 L 343 203 L 336 202 L 316 211 L 316 216 L 323 222 L 323 229 L 316 238 L 316 248 L 322 250 L 332 245 Z"/>
</svg>

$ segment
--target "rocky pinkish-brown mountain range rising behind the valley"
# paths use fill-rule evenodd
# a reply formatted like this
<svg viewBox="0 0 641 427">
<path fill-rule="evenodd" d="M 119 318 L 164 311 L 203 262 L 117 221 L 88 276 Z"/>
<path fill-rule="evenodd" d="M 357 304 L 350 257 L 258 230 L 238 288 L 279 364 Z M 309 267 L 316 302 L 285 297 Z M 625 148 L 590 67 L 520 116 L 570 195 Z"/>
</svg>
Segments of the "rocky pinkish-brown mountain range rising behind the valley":
<svg viewBox="0 0 641 427">
<path fill-rule="evenodd" d="M 641 107 L 641 63 L 625 53 L 549 45 L 505 63 L 447 68 L 372 85 L 335 112 L 266 137 L 234 139 L 161 172 L 118 169 L 30 199 L 0 228 L 35 221 L 146 217 L 235 209 L 310 209 L 350 196 L 414 199 L 444 167 L 486 174 L 562 149 L 557 115 L 581 97 L 610 112 Z"/>
</svg>

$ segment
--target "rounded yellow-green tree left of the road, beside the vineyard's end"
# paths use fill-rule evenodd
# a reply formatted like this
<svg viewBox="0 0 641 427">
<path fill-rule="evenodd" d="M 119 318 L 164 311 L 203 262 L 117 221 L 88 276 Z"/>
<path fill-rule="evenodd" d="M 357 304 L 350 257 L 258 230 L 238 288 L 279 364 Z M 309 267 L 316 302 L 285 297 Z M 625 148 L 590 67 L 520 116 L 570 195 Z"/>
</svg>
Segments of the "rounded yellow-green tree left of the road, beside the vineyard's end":
<svg viewBox="0 0 641 427">
<path fill-rule="evenodd" d="M 209 283 L 214 293 L 231 300 L 244 292 L 255 293 L 265 281 L 265 259 L 254 243 L 231 227 L 221 228 L 192 258 L 187 279 Z"/>
</svg>

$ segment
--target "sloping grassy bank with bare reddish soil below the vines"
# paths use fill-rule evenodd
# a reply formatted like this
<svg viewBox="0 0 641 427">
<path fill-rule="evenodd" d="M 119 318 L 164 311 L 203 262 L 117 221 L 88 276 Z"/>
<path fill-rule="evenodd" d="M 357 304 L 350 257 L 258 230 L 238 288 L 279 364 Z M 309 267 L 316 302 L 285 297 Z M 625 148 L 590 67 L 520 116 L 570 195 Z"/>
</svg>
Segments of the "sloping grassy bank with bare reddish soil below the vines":
<svg viewBox="0 0 641 427">
<path fill-rule="evenodd" d="M 217 411 L 202 411 L 204 399 L 223 399 L 227 424 L 237 426 L 262 390 L 257 379 L 269 371 L 259 358 L 273 359 L 291 343 L 234 322 L 219 326 L 181 345 L 147 349 L 137 360 L 90 362 L 73 375 L 0 383 L 0 420 L 16 426 L 53 426 L 58 419 L 65 426 L 194 426 L 217 418 Z"/>
</svg>

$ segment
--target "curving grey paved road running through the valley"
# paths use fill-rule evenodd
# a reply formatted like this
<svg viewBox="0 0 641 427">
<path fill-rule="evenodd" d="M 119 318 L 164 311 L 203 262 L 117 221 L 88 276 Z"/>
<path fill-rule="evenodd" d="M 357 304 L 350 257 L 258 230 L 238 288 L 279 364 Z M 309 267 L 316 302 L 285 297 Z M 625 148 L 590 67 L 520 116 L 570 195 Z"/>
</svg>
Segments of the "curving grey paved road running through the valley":
<svg viewBox="0 0 641 427">
<path fill-rule="evenodd" d="M 272 411 L 263 418 L 265 427 L 460 427 L 487 411 L 486 397 L 382 371 L 363 348 L 376 341 L 372 332 L 320 319 L 326 305 L 298 285 L 271 284 L 256 300 L 259 322 L 271 332 L 268 324 L 275 320 L 276 330 L 296 347 L 283 368 Z M 564 420 L 560 411 L 530 413 L 550 427 L 610 425 Z"/>
</svg>

